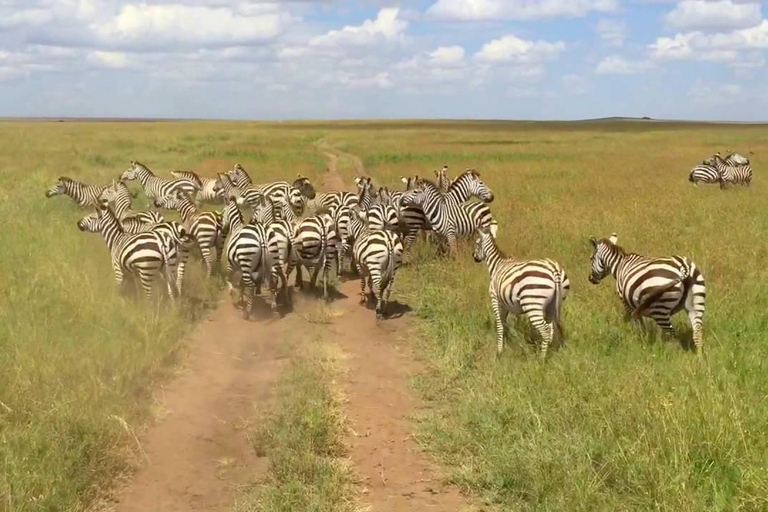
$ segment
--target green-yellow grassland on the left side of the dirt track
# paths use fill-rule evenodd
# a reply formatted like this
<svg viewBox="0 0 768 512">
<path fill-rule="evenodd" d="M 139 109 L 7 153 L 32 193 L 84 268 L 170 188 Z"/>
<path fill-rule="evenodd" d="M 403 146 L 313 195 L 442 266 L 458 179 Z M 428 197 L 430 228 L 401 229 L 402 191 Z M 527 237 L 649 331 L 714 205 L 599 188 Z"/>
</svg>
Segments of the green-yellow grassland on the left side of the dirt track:
<svg viewBox="0 0 768 512">
<path fill-rule="evenodd" d="M 0 123 L 0 510 L 84 510 L 130 468 L 153 383 L 221 285 L 193 257 L 182 304 L 121 297 L 101 237 L 75 225 L 90 212 L 44 192 L 60 175 L 109 182 L 132 159 L 164 176 L 239 161 L 265 181 L 288 168 L 316 179 L 324 160 L 309 136 L 256 123 Z"/>
</svg>

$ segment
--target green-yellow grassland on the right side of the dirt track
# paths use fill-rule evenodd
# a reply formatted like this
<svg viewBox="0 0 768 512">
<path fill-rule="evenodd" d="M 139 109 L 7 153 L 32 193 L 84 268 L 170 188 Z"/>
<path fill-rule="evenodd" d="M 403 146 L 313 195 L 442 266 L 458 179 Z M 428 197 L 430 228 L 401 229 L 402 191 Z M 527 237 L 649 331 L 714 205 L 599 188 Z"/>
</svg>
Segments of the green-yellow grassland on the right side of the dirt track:
<svg viewBox="0 0 768 512">
<path fill-rule="evenodd" d="M 517 320 L 497 360 L 487 270 L 471 245 L 455 262 L 417 250 L 394 296 L 416 310 L 429 363 L 417 388 L 434 407 L 418 438 L 452 482 L 499 510 L 766 510 L 764 132 L 619 125 L 329 137 L 398 188 L 400 175 L 431 177 L 443 163 L 453 176 L 476 167 L 496 194 L 501 247 L 556 259 L 571 278 L 566 346 L 542 365 Z M 484 143 L 499 140 L 510 143 Z M 758 155 L 752 188 L 694 188 L 690 167 L 727 147 Z M 589 236 L 613 231 L 628 250 L 684 254 L 703 268 L 704 361 L 651 325 L 644 333 L 625 324 L 612 278 L 587 282 Z M 690 338 L 684 315 L 676 326 Z"/>
</svg>

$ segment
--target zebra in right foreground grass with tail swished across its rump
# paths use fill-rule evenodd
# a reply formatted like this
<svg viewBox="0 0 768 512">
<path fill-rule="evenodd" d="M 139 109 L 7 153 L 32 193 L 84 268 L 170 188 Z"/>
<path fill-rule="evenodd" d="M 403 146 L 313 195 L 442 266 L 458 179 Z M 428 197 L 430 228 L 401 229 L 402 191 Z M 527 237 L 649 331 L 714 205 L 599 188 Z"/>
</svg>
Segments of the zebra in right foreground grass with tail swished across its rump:
<svg viewBox="0 0 768 512">
<path fill-rule="evenodd" d="M 699 268 L 684 256 L 646 258 L 626 253 L 616 245 L 617 238 L 615 233 L 607 240 L 590 238 L 594 252 L 589 282 L 598 284 L 613 275 L 627 316 L 651 317 L 666 334 L 674 335 L 672 315 L 685 309 L 700 354 L 706 286 Z"/>
</svg>

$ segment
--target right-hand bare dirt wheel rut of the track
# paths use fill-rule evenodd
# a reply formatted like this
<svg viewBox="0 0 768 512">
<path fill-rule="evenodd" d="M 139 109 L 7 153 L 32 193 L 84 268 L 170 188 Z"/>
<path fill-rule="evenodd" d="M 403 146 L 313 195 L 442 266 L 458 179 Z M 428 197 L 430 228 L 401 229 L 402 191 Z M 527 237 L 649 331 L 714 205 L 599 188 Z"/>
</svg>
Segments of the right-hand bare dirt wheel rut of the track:
<svg viewBox="0 0 768 512">
<path fill-rule="evenodd" d="M 338 173 L 341 154 L 356 162 L 358 174 L 365 174 L 360 158 L 327 145 L 320 147 L 328 157 L 323 177 L 327 190 L 349 189 Z M 326 329 L 346 356 L 344 388 L 351 428 L 347 444 L 362 479 L 362 500 L 373 512 L 478 510 L 456 488 L 441 482 L 436 466 L 411 437 L 414 426 L 408 416 L 421 404 L 407 381 L 421 367 L 408 345 L 400 343 L 414 329 L 408 307 L 397 302 L 397 281 L 388 308 L 390 318 L 381 322 L 359 303 L 359 279 L 342 282 L 339 291 L 346 298 L 333 307 L 343 314 Z"/>
</svg>

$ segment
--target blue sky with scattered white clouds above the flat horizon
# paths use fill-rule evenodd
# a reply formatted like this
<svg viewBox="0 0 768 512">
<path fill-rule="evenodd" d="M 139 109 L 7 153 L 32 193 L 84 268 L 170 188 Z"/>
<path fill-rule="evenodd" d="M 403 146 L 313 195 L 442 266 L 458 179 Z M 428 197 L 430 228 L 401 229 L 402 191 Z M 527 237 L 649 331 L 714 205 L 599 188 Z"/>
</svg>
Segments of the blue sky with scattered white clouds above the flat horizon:
<svg viewBox="0 0 768 512">
<path fill-rule="evenodd" d="M 0 0 L 0 115 L 768 120 L 751 0 Z"/>
</svg>

